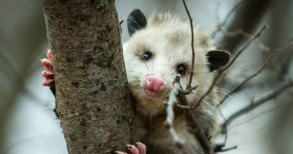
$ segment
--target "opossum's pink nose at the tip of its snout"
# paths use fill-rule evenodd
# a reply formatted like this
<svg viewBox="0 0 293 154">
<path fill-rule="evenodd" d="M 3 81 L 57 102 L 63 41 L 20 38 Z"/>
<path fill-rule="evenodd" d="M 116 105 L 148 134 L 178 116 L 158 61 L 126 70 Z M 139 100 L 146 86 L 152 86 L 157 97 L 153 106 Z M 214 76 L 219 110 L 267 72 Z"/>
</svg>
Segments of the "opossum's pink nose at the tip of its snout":
<svg viewBox="0 0 293 154">
<path fill-rule="evenodd" d="M 147 76 L 145 82 L 147 88 L 154 92 L 160 92 L 167 87 L 166 81 L 156 75 Z"/>
</svg>

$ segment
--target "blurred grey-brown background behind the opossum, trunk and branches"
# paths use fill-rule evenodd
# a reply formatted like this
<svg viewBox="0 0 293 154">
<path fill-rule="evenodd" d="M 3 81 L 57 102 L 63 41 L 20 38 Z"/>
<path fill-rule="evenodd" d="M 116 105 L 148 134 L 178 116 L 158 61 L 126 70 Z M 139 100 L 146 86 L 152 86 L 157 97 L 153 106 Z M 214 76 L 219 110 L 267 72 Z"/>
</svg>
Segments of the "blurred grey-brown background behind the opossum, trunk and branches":
<svg viewBox="0 0 293 154">
<path fill-rule="evenodd" d="M 139 0 L 116 1 L 119 20 L 126 21 L 125 17 L 134 8 L 147 16 L 149 10 L 171 10 L 187 17 L 181 0 L 143 2 L 145 5 Z M 232 57 L 251 35 L 269 25 L 221 78 L 222 87 L 215 90 L 223 94 L 257 72 L 276 48 L 293 37 L 293 0 L 186 0 L 186 3 L 193 21 L 210 35 L 217 31 L 216 45 L 231 52 Z M 41 2 L 1 0 L 0 21 L 0 153 L 65 154 L 60 121 L 52 111 L 54 97 L 41 84 L 45 67 L 40 60 L 47 58 L 49 49 Z M 246 33 L 231 33 L 239 28 Z M 125 42 L 129 38 L 126 22 L 122 23 L 122 29 Z M 226 119 L 293 77 L 292 49 L 291 44 L 286 45 L 262 73 L 224 100 L 221 110 Z M 275 99 L 230 121 L 226 147 L 238 145 L 238 148 L 224 153 L 293 153 L 292 94 L 293 88 L 288 88 Z M 220 122 L 224 122 L 223 118 Z M 224 141 L 221 136 L 218 140 Z"/>
</svg>

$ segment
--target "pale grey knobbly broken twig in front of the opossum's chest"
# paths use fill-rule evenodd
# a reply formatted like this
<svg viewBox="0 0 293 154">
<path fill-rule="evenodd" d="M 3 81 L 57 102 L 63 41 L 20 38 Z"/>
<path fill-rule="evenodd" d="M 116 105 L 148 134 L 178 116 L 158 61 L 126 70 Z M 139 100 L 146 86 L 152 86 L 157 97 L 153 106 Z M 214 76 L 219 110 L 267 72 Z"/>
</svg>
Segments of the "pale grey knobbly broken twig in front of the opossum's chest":
<svg viewBox="0 0 293 154">
<path fill-rule="evenodd" d="M 181 138 L 179 138 L 179 136 L 177 135 L 177 133 L 173 127 L 173 120 L 174 120 L 173 108 L 175 105 L 178 104 L 176 97 L 179 94 L 180 90 L 181 90 L 180 75 L 178 74 L 173 81 L 173 90 L 168 95 L 169 100 L 166 103 L 167 117 L 166 117 L 166 121 L 164 122 L 165 127 L 168 129 L 168 131 L 171 135 L 171 138 L 173 139 L 173 143 L 176 145 L 177 154 L 182 154 L 181 149 L 183 148 L 183 145 L 185 144 L 185 141 L 182 140 Z"/>
</svg>

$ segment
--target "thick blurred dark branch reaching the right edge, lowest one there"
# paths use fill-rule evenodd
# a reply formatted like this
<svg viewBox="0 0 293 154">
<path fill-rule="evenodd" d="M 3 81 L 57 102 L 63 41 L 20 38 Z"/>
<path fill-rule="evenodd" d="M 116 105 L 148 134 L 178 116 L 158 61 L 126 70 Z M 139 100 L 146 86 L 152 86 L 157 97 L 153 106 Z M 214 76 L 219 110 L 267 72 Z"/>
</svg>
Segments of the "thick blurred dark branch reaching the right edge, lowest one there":
<svg viewBox="0 0 293 154">
<path fill-rule="evenodd" d="M 250 105 L 246 106 L 245 108 L 237 111 L 235 114 L 230 116 L 230 118 L 222 125 L 229 125 L 231 121 L 238 118 L 239 116 L 248 113 L 249 111 L 255 109 L 256 107 L 260 106 L 261 104 L 265 103 L 266 101 L 276 98 L 279 94 L 282 94 L 286 89 L 293 87 L 293 81 L 284 84 L 282 87 L 277 88 L 275 91 L 271 92 L 265 97 L 258 99 L 257 101 L 253 101 Z"/>
</svg>

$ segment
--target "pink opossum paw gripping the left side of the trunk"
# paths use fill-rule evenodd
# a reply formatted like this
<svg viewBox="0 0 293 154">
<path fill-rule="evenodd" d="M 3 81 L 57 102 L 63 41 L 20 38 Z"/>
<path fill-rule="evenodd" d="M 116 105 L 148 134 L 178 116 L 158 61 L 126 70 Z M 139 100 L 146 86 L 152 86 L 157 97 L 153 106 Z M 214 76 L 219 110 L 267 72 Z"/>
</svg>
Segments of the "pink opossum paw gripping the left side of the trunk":
<svg viewBox="0 0 293 154">
<path fill-rule="evenodd" d="M 53 73 L 53 67 L 52 67 L 52 56 L 51 56 L 51 51 L 48 50 L 47 52 L 47 57 L 48 59 L 42 59 L 42 65 L 44 65 L 47 70 L 42 71 L 42 76 L 45 77 L 46 79 L 42 82 L 43 86 L 54 86 L 54 73 Z"/>
</svg>

